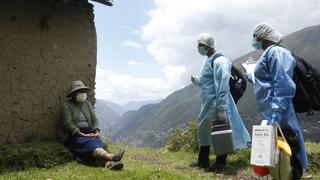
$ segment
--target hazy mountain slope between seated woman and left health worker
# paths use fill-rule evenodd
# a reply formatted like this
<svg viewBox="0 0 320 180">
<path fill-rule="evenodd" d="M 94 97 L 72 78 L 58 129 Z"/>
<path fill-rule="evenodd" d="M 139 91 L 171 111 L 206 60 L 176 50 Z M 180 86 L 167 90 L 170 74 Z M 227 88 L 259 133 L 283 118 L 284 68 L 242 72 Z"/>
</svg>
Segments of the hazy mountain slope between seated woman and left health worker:
<svg viewBox="0 0 320 180">
<path fill-rule="evenodd" d="M 158 104 L 125 113 L 111 132 L 112 139 L 136 146 L 164 145 L 171 128 L 185 125 L 190 117 L 197 116 L 200 99 L 195 97 L 199 97 L 199 93 L 198 88 L 188 86 Z"/>
</svg>

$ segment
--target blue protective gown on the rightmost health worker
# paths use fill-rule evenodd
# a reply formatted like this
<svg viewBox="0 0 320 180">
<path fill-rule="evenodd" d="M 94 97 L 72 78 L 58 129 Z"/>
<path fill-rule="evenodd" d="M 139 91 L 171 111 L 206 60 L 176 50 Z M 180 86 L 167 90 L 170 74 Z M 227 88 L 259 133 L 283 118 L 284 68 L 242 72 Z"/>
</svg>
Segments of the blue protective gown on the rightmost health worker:
<svg viewBox="0 0 320 180">
<path fill-rule="evenodd" d="M 280 46 L 268 47 L 255 68 L 254 93 L 260 113 L 268 122 L 271 122 L 275 109 L 282 110 L 282 120 L 278 123 L 282 128 L 293 129 L 298 135 L 301 165 L 303 169 L 307 169 L 304 139 L 292 103 L 296 91 L 296 85 L 292 80 L 294 67 L 295 60 L 290 51 Z"/>
</svg>

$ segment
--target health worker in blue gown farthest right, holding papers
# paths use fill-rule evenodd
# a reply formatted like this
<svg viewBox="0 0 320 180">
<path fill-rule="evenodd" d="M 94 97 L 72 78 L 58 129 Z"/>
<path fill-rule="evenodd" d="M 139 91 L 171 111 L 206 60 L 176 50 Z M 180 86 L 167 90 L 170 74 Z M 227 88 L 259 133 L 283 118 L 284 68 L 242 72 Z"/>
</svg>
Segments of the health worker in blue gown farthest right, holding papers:
<svg viewBox="0 0 320 180">
<path fill-rule="evenodd" d="M 254 94 L 261 115 L 268 124 L 278 122 L 285 132 L 291 132 L 298 144 L 290 144 L 291 149 L 298 147 L 297 154 L 304 170 L 308 168 L 307 154 L 298 117 L 292 99 L 296 85 L 292 79 L 295 59 L 291 52 L 279 46 L 281 34 L 268 23 L 257 25 L 253 31 L 252 46 L 263 50 L 254 71 Z M 247 75 L 252 81 L 252 75 Z M 289 133 L 285 133 L 288 139 Z"/>
</svg>

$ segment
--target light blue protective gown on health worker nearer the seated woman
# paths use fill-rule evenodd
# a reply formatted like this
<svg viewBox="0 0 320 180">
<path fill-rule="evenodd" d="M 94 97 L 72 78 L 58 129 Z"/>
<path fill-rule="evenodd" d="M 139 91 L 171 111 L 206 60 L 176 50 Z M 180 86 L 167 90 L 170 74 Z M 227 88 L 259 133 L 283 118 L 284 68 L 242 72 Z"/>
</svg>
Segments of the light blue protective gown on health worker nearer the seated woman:
<svg viewBox="0 0 320 180">
<path fill-rule="evenodd" d="M 237 149 L 247 148 L 251 142 L 250 135 L 230 93 L 229 79 L 232 64 L 224 56 L 213 60 L 216 53 L 205 60 L 200 77 L 194 82 L 201 88 L 201 112 L 198 117 L 199 145 L 209 146 L 212 144 L 211 119 L 217 109 L 223 109 L 227 112 L 233 130 L 235 147 Z M 214 61 L 213 67 L 212 61 Z"/>
</svg>

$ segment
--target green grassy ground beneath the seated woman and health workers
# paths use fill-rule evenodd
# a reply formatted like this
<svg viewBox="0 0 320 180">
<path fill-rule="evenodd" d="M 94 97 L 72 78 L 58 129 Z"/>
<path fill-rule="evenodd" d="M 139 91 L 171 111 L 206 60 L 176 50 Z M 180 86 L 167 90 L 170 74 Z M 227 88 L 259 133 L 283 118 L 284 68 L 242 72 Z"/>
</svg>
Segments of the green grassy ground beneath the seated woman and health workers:
<svg viewBox="0 0 320 180">
<path fill-rule="evenodd" d="M 318 144 L 307 144 L 310 155 L 315 158 L 312 159 L 314 168 L 310 171 L 313 179 L 320 179 L 319 147 Z M 61 165 L 52 167 L 28 167 L 20 171 L 7 169 L 1 172 L 0 179 L 252 179 L 249 150 L 241 150 L 230 156 L 228 168 L 221 174 L 214 174 L 189 168 L 188 164 L 196 158 L 196 154 L 192 152 L 172 153 L 161 149 L 123 145 L 110 148 L 113 152 L 119 149 L 126 150 L 123 159 L 125 167 L 121 171 L 109 171 L 102 167 L 90 167 L 74 161 L 65 161 Z"/>
</svg>

